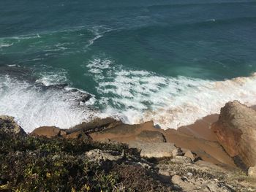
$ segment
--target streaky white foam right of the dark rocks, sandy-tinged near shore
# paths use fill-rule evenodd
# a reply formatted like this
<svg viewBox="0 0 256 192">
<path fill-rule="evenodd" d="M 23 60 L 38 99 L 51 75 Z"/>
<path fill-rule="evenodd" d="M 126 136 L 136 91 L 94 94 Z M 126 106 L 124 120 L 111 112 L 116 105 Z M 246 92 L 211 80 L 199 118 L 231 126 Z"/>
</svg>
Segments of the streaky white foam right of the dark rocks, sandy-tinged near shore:
<svg viewBox="0 0 256 192">
<path fill-rule="evenodd" d="M 94 72 L 102 64 L 108 64 L 102 74 Z M 162 128 L 178 128 L 219 113 L 227 101 L 256 104 L 256 74 L 225 81 L 161 77 L 108 59 L 94 59 L 87 67 L 98 82 L 99 104 L 107 106 L 101 117 L 112 115 L 126 123 L 154 120 Z"/>
</svg>

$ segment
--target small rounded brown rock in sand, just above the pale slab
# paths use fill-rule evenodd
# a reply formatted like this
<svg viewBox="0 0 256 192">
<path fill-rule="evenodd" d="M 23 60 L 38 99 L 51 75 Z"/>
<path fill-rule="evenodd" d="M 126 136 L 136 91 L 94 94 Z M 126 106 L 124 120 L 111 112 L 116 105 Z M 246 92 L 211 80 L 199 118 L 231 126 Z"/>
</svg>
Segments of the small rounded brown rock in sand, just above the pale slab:
<svg viewBox="0 0 256 192">
<path fill-rule="evenodd" d="M 141 131 L 136 140 L 141 142 L 166 142 L 164 135 L 159 131 Z"/>
</svg>

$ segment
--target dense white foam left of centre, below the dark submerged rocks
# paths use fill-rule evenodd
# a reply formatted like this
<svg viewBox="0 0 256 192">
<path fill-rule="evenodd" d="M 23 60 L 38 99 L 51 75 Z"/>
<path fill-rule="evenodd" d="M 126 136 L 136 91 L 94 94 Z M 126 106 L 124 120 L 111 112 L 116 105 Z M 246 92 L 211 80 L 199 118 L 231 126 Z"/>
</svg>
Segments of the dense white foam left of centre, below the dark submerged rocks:
<svg viewBox="0 0 256 192">
<path fill-rule="evenodd" d="M 95 111 L 76 100 L 80 92 L 61 88 L 43 89 L 29 82 L 0 76 L 0 115 L 15 117 L 25 131 L 39 126 L 69 128 L 91 119 Z"/>
</svg>

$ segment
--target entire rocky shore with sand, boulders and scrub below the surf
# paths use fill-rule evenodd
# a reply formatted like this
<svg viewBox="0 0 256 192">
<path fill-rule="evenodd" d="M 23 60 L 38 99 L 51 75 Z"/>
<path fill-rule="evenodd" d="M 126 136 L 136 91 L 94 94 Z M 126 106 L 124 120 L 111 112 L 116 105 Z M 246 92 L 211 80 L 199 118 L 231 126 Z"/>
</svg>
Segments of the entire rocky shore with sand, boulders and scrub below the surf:
<svg viewBox="0 0 256 192">
<path fill-rule="evenodd" d="M 238 101 L 194 124 L 95 119 L 26 134 L 0 116 L 0 191 L 256 191 L 256 111 Z"/>
</svg>

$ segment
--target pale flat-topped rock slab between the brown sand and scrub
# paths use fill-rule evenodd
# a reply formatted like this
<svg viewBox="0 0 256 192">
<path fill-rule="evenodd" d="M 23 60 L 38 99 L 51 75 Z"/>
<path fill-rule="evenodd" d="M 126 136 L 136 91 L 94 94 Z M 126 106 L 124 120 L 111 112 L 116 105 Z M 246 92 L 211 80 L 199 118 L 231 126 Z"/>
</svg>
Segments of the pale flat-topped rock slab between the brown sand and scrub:
<svg viewBox="0 0 256 192">
<path fill-rule="evenodd" d="M 138 148 L 140 156 L 147 158 L 172 157 L 176 146 L 167 142 L 129 142 L 129 147 Z"/>
</svg>

